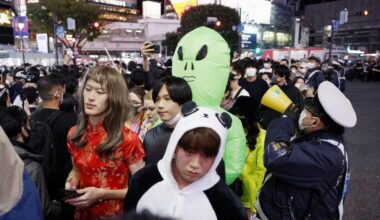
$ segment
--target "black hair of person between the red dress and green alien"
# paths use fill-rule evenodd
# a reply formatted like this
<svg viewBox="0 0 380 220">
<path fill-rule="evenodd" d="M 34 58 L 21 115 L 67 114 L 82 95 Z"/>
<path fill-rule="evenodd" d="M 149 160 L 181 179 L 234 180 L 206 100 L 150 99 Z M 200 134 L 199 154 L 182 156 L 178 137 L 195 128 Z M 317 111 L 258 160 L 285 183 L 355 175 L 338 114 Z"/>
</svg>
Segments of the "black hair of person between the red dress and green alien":
<svg viewBox="0 0 380 220">
<path fill-rule="evenodd" d="M 183 105 L 193 98 L 191 88 L 186 80 L 175 76 L 166 76 L 153 86 L 152 96 L 154 102 L 157 101 L 158 93 L 164 85 L 168 90 L 170 98 L 179 105 Z"/>
</svg>

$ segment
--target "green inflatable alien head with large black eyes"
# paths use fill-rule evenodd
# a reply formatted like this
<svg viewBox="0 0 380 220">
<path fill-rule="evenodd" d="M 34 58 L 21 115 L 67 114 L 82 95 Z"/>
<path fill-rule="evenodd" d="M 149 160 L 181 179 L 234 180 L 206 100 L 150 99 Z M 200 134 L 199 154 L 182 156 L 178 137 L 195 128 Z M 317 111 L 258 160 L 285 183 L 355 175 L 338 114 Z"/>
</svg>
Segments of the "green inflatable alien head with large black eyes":
<svg viewBox="0 0 380 220">
<path fill-rule="evenodd" d="M 178 43 L 173 75 L 185 79 L 199 106 L 219 106 L 230 72 L 230 49 L 216 31 L 199 27 Z"/>
</svg>

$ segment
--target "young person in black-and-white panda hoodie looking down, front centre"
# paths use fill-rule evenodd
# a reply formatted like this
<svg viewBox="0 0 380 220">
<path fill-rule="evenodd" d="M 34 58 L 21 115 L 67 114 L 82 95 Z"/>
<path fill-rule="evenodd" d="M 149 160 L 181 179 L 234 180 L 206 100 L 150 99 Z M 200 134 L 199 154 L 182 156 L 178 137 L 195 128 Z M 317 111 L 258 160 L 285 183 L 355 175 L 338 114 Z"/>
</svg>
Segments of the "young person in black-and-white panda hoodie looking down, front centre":
<svg viewBox="0 0 380 220">
<path fill-rule="evenodd" d="M 129 181 L 125 213 L 148 210 L 180 220 L 247 219 L 239 198 L 216 173 L 231 118 L 194 102 L 182 107 L 164 157 Z"/>
</svg>

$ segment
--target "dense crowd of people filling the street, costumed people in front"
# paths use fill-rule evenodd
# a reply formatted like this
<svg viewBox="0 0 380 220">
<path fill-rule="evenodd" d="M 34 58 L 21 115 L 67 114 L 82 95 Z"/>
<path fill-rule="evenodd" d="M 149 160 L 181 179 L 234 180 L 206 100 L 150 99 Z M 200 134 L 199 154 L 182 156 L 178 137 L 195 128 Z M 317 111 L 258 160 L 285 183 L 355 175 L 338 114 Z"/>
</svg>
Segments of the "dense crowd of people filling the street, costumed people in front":
<svg viewBox="0 0 380 220">
<path fill-rule="evenodd" d="M 189 58 L 183 43 L 165 64 L 146 42 L 141 64 L 2 67 L 0 219 L 341 219 L 347 64 L 214 60 L 223 69 L 202 74 L 227 83 L 213 108 L 186 74 L 221 47 Z M 273 86 L 290 113 L 261 104 Z"/>
</svg>

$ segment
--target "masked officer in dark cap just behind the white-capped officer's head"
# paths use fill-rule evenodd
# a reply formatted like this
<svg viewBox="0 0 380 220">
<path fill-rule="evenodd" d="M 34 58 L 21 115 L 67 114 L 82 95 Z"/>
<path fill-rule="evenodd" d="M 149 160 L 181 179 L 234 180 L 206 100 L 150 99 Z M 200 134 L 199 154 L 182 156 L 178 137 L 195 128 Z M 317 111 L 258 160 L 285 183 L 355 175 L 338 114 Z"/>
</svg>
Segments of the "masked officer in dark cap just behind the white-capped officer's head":
<svg viewBox="0 0 380 220">
<path fill-rule="evenodd" d="M 307 73 L 305 75 L 305 84 L 308 85 L 310 92 L 315 92 L 319 84 L 325 80 L 320 69 L 321 60 L 316 56 L 310 56 L 307 62 Z"/>
</svg>

